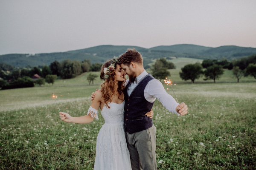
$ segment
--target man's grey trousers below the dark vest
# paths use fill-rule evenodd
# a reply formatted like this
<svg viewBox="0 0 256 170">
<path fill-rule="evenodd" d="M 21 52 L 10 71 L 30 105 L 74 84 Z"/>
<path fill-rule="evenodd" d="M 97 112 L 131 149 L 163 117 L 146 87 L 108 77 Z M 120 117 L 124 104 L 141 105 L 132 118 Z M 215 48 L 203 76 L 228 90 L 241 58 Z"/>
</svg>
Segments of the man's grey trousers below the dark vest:
<svg viewBox="0 0 256 170">
<path fill-rule="evenodd" d="M 157 170 L 156 138 L 153 125 L 146 130 L 130 134 L 125 130 L 125 137 L 131 158 L 132 170 Z"/>
</svg>

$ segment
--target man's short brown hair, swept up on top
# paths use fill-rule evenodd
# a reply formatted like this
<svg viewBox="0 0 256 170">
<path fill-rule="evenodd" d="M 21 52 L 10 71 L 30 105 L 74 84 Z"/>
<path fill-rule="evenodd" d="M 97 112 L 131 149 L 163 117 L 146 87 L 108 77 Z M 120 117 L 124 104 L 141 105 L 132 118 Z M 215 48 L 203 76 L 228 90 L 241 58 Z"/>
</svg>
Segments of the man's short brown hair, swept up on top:
<svg viewBox="0 0 256 170">
<path fill-rule="evenodd" d="M 119 64 L 130 65 L 131 62 L 137 62 L 143 65 L 142 55 L 134 48 L 128 48 L 127 51 L 119 57 Z"/>
</svg>

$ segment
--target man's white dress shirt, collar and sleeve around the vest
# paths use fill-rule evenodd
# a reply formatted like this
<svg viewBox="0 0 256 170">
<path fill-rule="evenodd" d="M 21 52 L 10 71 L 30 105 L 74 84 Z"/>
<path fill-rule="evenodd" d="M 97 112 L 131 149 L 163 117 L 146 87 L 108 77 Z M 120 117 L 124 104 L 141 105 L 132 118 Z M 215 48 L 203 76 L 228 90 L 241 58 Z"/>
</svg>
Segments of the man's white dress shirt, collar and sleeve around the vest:
<svg viewBox="0 0 256 170">
<path fill-rule="evenodd" d="M 137 83 L 131 82 L 131 85 L 127 89 L 129 96 L 134 88 L 136 88 L 136 86 L 139 84 L 140 80 L 146 75 L 148 75 L 148 73 L 144 70 L 138 77 L 136 77 Z M 129 79 L 126 80 L 125 85 L 127 85 L 128 82 Z M 180 115 L 176 111 L 176 107 L 179 105 L 179 103 L 177 103 L 176 100 L 166 92 L 163 84 L 158 79 L 152 79 L 148 82 L 144 89 L 144 97 L 148 102 L 151 103 L 158 99 L 158 101 L 161 102 L 168 111 Z"/>
</svg>

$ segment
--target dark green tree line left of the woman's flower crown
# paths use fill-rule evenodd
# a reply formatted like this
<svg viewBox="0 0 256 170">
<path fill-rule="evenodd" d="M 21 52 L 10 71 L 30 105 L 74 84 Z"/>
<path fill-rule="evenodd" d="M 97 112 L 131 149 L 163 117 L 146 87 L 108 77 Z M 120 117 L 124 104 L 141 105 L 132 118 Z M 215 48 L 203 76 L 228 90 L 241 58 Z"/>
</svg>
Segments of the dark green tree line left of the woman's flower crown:
<svg viewBox="0 0 256 170">
<path fill-rule="evenodd" d="M 15 68 L 6 63 L 0 63 L 0 87 L 3 89 L 34 87 L 34 84 L 44 85 L 45 82 L 53 83 L 57 77 L 61 79 L 74 78 L 84 72 L 100 71 L 101 63 L 90 63 L 90 59 L 84 61 L 71 61 L 66 59 L 62 62 L 54 61 L 50 65 L 43 67 Z M 32 77 L 38 74 L 41 78 L 33 81 Z M 96 75 L 91 74 L 87 77 L 89 83 L 93 82 Z"/>
</svg>

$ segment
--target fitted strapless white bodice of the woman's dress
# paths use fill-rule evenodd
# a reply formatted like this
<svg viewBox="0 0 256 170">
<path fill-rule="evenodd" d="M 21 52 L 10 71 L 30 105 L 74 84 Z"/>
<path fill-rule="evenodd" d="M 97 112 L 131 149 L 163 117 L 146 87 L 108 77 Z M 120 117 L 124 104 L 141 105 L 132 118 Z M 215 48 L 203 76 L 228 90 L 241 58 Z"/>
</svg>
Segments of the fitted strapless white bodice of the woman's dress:
<svg viewBox="0 0 256 170">
<path fill-rule="evenodd" d="M 121 104 L 117 103 L 108 103 L 107 105 L 104 105 L 101 111 L 101 114 L 105 120 L 105 123 L 107 124 L 123 124 L 124 121 L 124 105 L 125 101 L 123 101 Z"/>
</svg>

